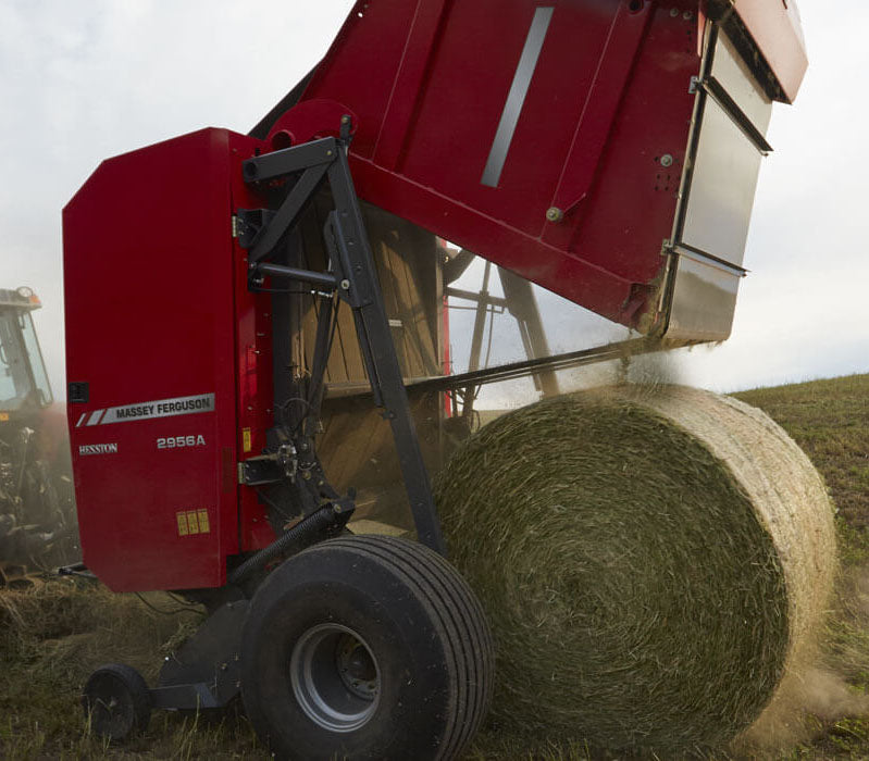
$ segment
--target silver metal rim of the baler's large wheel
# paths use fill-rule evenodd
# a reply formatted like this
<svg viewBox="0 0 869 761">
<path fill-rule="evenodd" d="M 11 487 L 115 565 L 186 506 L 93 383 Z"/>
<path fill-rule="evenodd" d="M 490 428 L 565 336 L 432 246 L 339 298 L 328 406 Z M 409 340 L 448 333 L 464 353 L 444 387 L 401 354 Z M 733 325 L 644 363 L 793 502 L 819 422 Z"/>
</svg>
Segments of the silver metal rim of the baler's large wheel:
<svg viewBox="0 0 869 761">
<path fill-rule="evenodd" d="M 380 702 L 381 673 L 364 639 L 340 624 L 309 628 L 289 661 L 293 694 L 307 716 L 331 732 L 367 724 Z"/>
</svg>

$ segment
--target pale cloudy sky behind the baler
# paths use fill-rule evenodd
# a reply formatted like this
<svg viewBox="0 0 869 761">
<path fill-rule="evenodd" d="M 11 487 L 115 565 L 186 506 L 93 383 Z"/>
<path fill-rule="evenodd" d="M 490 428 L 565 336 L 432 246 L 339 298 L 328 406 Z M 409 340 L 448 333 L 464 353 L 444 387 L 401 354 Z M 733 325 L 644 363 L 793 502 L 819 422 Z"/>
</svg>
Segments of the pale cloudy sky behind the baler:
<svg viewBox="0 0 869 761">
<path fill-rule="evenodd" d="M 32 286 L 63 396 L 61 209 L 99 162 L 203 126 L 247 132 L 323 55 L 350 0 L 0 0 L 0 287 Z M 303 10 L 298 10 L 303 9 Z M 810 66 L 777 105 L 731 338 L 672 352 L 682 383 L 731 391 L 869 372 L 869 4 L 800 0 Z M 479 270 L 468 275 L 479 279 Z M 544 320 L 564 305 L 542 298 Z M 621 337 L 579 310 L 583 340 Z M 467 322 L 456 316 L 456 353 Z M 501 317 L 496 351 L 516 353 Z M 499 342 L 499 337 L 501 337 Z M 585 345 L 588 345 L 586 341 Z M 510 355 L 510 357 L 508 357 Z M 494 399 L 494 398 L 493 398 Z"/>
</svg>

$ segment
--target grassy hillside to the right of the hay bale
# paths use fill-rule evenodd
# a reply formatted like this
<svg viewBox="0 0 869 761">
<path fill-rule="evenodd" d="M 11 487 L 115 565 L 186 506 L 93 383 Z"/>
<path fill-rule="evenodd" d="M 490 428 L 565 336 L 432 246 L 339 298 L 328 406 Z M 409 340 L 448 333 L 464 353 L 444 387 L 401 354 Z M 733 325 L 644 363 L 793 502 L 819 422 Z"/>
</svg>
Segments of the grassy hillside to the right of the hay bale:
<svg viewBox="0 0 869 761">
<path fill-rule="evenodd" d="M 765 410 L 808 454 L 837 509 L 842 572 L 807 679 L 797 743 L 779 758 L 869 758 L 869 375 L 735 395 Z"/>
</svg>

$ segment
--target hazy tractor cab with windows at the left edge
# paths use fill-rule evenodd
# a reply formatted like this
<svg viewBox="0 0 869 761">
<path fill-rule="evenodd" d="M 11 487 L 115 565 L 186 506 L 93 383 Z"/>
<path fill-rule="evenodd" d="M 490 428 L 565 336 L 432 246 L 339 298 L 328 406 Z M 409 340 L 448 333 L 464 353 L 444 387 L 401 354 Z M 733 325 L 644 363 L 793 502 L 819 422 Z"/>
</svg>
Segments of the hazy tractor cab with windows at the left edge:
<svg viewBox="0 0 869 761">
<path fill-rule="evenodd" d="M 30 288 L 0 288 L 0 415 L 33 412 L 52 402 L 32 312 L 42 304 Z"/>
</svg>

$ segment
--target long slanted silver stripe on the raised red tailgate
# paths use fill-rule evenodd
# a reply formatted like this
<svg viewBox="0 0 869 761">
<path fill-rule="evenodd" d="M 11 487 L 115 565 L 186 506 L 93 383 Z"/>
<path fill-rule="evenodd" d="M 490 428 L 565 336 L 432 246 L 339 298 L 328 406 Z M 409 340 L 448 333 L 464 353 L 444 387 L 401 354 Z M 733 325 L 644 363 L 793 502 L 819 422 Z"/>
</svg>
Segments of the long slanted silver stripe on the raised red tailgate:
<svg viewBox="0 0 869 761">
<path fill-rule="evenodd" d="M 495 132 L 495 139 L 492 142 L 486 167 L 483 170 L 483 178 L 480 180 L 483 185 L 488 185 L 493 188 L 498 186 L 504 162 L 507 161 L 507 151 L 510 150 L 510 144 L 513 140 L 516 125 L 519 123 L 519 114 L 525 103 L 525 96 L 531 86 L 534 70 L 537 67 L 537 59 L 541 55 L 543 41 L 546 38 L 546 32 L 549 29 L 554 10 L 554 8 L 538 8 L 534 11 L 534 18 L 531 21 L 525 46 L 522 49 L 519 65 L 516 67 L 516 74 L 513 74 L 513 83 L 510 85 L 498 129 Z"/>
</svg>

